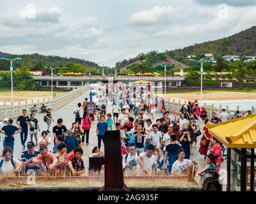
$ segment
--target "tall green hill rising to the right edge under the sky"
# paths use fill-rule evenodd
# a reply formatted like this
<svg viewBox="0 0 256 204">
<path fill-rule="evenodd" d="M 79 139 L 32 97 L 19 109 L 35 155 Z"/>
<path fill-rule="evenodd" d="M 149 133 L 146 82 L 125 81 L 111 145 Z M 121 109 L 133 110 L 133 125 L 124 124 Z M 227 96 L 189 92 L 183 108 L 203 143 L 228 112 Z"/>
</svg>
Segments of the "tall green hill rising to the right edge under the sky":
<svg viewBox="0 0 256 204">
<path fill-rule="evenodd" d="M 116 68 L 125 70 L 129 66 L 140 64 L 141 61 L 145 61 L 151 67 L 156 66 L 157 62 L 159 64 L 170 62 L 176 68 L 186 68 L 191 64 L 186 59 L 188 55 L 196 55 L 200 58 L 204 54 L 213 54 L 215 59 L 223 55 L 256 55 L 256 26 L 220 40 L 198 43 L 171 51 L 166 50 L 164 53 L 152 51 L 139 54 L 134 58 L 116 62 Z"/>
</svg>

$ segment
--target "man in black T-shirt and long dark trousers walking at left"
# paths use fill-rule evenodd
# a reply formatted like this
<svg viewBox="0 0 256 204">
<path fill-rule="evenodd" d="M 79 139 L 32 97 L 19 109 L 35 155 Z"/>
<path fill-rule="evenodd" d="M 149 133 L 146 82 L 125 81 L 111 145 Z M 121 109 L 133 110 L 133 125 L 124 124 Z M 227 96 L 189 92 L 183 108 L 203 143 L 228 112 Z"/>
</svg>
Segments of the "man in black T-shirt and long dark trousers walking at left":
<svg viewBox="0 0 256 204">
<path fill-rule="evenodd" d="M 20 141 L 23 149 L 25 149 L 25 143 L 28 138 L 28 120 L 29 117 L 27 115 L 27 110 L 24 109 L 22 110 L 22 115 L 20 115 L 16 121 L 17 126 L 19 126 L 19 129 L 21 129 Z"/>
</svg>

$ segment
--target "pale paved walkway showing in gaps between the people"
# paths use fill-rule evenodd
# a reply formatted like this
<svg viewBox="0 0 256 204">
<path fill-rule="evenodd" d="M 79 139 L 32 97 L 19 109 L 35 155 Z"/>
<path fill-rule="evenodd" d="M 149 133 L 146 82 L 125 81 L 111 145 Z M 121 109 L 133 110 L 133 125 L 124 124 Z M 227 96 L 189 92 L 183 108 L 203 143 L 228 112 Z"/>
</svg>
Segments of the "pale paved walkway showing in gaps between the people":
<svg viewBox="0 0 256 204">
<path fill-rule="evenodd" d="M 52 110 L 52 117 L 54 119 L 54 122 L 52 122 L 52 126 L 51 126 L 51 138 L 52 138 L 52 143 L 53 143 L 53 136 L 52 136 L 52 127 L 56 125 L 56 121 L 59 118 L 63 119 L 63 124 L 67 127 L 67 129 L 70 129 L 72 127 L 72 122 L 74 122 L 75 119 L 75 115 L 74 115 L 74 108 L 76 108 L 77 103 L 83 103 L 84 98 L 89 98 L 89 92 L 86 92 L 84 94 L 82 94 L 81 96 L 75 98 L 73 101 L 71 101 L 70 103 L 67 103 L 63 106 L 61 106 L 60 108 L 58 108 L 57 110 Z M 107 113 L 110 112 L 112 113 L 112 106 L 108 105 L 107 106 Z M 41 131 L 46 130 L 47 126 L 46 123 L 43 120 L 43 116 L 44 114 L 39 113 L 38 115 L 36 115 L 36 119 L 38 119 L 39 125 L 40 125 L 40 129 Z M 170 117 L 173 117 L 173 115 L 171 115 Z M 155 113 L 154 115 L 154 120 L 152 121 L 152 123 L 154 124 L 154 122 L 156 122 L 156 119 L 161 118 L 161 114 L 160 113 Z M 15 119 L 16 120 L 16 119 Z M 13 122 L 14 123 L 14 122 Z M 84 164 L 86 167 L 89 166 L 88 163 L 88 156 L 90 154 L 92 154 L 92 149 L 93 147 L 97 146 L 97 136 L 96 136 L 96 124 L 97 124 L 97 120 L 94 120 L 92 122 L 92 128 L 90 130 L 90 138 L 89 138 L 89 145 L 83 145 L 82 148 L 84 150 L 84 154 L 83 154 L 83 159 L 84 159 Z M 200 128 L 202 129 L 204 127 L 204 123 L 202 122 L 200 124 Z M 115 129 L 115 127 L 113 127 L 113 129 Z M 38 138 L 40 137 L 41 133 L 38 134 Z M 30 135 L 28 136 L 28 140 L 27 142 L 29 142 L 30 140 Z M 200 141 L 200 137 L 198 138 L 198 144 L 197 147 L 193 149 L 193 155 L 191 156 L 191 159 L 195 159 L 195 161 L 198 162 L 199 164 L 199 170 L 201 170 L 202 168 L 205 167 L 206 163 L 204 160 L 204 156 L 201 156 L 198 153 L 198 149 L 199 149 L 199 141 Z M 35 142 L 35 139 L 34 139 Z M 50 145 L 51 149 L 53 147 L 53 144 Z M 3 150 L 3 143 L 1 143 L 1 147 L 0 147 L 0 151 L 2 152 Z M 104 151 L 104 145 L 102 145 L 101 148 L 102 151 Z M 20 154 L 21 152 L 23 152 L 24 150 L 22 149 L 22 145 L 20 143 L 20 135 L 17 134 L 15 135 L 15 145 L 14 145 L 14 157 L 17 159 L 20 159 Z M 226 162 L 221 164 L 221 168 L 226 168 Z"/>
</svg>

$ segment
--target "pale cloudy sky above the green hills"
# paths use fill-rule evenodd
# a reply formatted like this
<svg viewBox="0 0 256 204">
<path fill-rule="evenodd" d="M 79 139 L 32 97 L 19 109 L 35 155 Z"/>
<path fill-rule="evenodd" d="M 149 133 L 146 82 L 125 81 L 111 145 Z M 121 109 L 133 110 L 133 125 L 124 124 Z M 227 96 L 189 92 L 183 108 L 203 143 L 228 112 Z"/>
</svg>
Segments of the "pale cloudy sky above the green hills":
<svg viewBox="0 0 256 204">
<path fill-rule="evenodd" d="M 256 25 L 256 0 L 0 0 L 0 51 L 115 62 Z"/>
</svg>

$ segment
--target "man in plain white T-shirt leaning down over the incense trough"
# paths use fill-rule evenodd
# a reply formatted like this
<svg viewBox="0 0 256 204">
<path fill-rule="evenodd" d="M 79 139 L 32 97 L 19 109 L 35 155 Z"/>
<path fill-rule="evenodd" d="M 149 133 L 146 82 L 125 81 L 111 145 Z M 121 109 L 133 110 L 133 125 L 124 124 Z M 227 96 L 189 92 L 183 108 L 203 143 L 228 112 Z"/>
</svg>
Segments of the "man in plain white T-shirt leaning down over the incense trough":
<svg viewBox="0 0 256 204">
<path fill-rule="evenodd" d="M 148 145 L 146 152 L 142 152 L 137 158 L 140 165 L 139 172 L 142 174 L 153 173 L 156 166 L 156 157 L 154 156 L 154 145 Z"/>
</svg>

